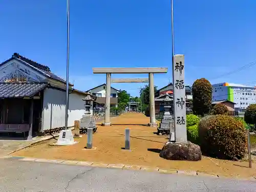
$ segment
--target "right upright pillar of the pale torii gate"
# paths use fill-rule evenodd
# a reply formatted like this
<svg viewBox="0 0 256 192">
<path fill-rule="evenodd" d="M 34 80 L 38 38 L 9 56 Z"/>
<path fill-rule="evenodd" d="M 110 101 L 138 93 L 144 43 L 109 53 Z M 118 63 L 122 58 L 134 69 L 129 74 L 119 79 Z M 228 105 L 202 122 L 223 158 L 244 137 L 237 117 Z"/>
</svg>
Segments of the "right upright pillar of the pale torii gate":
<svg viewBox="0 0 256 192">
<path fill-rule="evenodd" d="M 150 126 L 157 126 L 156 113 L 155 113 L 155 91 L 154 91 L 154 74 L 149 73 L 148 79 L 150 80 Z"/>
</svg>

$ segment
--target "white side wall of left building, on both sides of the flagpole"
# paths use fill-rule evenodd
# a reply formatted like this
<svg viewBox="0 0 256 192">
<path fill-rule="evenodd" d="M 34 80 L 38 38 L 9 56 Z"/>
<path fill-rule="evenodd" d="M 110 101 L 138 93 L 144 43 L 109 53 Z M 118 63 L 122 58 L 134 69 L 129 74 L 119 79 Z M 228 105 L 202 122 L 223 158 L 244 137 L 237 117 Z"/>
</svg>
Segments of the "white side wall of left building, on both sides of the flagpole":
<svg viewBox="0 0 256 192">
<path fill-rule="evenodd" d="M 68 126 L 73 126 L 75 120 L 82 118 L 84 114 L 82 98 L 84 98 L 84 95 L 75 92 L 69 95 Z M 66 92 L 46 89 L 44 91 L 42 131 L 65 126 L 65 110 Z"/>
</svg>

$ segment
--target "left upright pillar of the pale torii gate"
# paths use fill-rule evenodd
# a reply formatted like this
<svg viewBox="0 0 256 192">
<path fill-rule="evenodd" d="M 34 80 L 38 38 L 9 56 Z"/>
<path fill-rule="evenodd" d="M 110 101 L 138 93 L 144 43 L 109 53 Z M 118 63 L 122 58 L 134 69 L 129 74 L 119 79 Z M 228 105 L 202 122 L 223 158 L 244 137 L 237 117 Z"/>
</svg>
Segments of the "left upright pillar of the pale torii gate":
<svg viewBox="0 0 256 192">
<path fill-rule="evenodd" d="M 102 125 L 110 126 L 111 73 L 106 73 L 105 119 Z"/>
</svg>

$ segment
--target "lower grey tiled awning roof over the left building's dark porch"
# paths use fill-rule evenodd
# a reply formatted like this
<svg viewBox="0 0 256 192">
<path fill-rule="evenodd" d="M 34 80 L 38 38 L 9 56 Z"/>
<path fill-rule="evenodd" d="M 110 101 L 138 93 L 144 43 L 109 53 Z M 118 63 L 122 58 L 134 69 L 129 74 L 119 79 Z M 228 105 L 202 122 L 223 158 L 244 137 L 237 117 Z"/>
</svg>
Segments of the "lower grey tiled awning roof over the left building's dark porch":
<svg viewBox="0 0 256 192">
<path fill-rule="evenodd" d="M 47 86 L 47 83 L 0 82 L 0 98 L 31 97 Z"/>
</svg>

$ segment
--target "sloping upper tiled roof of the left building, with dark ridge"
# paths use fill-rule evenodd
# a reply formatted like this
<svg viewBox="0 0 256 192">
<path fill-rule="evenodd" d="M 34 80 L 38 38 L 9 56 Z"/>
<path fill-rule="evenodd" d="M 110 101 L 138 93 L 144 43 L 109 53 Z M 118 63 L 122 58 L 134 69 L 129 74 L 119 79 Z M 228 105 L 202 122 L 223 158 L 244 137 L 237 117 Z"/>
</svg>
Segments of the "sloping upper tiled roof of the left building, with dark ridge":
<svg viewBox="0 0 256 192">
<path fill-rule="evenodd" d="M 20 60 L 23 60 L 24 62 L 27 62 L 29 63 L 29 65 L 41 70 L 42 72 L 46 73 L 47 75 L 49 75 L 52 79 L 55 79 L 57 81 L 60 81 L 60 82 L 64 82 L 66 83 L 66 80 L 64 80 L 63 78 L 55 75 L 54 73 L 51 72 L 50 68 L 48 66 L 44 66 L 44 65 L 41 65 L 39 64 L 38 62 L 35 62 L 33 60 L 30 60 L 22 55 L 19 55 L 18 53 L 14 53 L 12 55 L 12 57 L 15 57 L 15 58 L 18 58 Z M 70 83 L 71 84 L 71 83 Z"/>
</svg>

